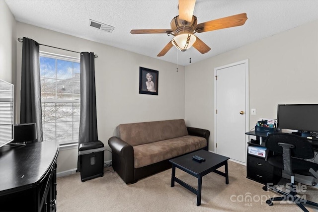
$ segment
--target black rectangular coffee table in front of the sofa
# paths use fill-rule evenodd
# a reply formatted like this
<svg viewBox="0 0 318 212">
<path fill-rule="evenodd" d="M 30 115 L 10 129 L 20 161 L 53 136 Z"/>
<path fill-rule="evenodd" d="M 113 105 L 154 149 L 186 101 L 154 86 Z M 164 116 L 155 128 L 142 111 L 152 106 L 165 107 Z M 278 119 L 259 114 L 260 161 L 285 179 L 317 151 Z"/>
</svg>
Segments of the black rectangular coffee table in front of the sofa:
<svg viewBox="0 0 318 212">
<path fill-rule="evenodd" d="M 198 162 L 192 159 L 192 156 L 198 155 L 205 158 L 205 161 Z M 215 172 L 225 177 L 225 183 L 229 184 L 229 173 L 228 173 L 228 160 L 230 157 L 225 157 L 219 154 L 215 154 L 206 150 L 198 150 L 191 152 L 189 154 L 182 155 L 180 157 L 173 158 L 169 160 L 172 163 L 172 176 L 171 176 L 171 187 L 174 186 L 174 182 L 179 183 L 181 186 L 185 187 L 189 191 L 197 195 L 197 206 L 201 205 L 201 187 L 202 187 L 202 177 L 209 174 L 210 172 Z M 225 165 L 225 173 L 219 170 L 221 166 Z M 192 186 L 186 184 L 182 180 L 175 177 L 175 167 L 185 171 L 188 174 L 198 178 L 198 189 L 196 190 Z"/>
</svg>

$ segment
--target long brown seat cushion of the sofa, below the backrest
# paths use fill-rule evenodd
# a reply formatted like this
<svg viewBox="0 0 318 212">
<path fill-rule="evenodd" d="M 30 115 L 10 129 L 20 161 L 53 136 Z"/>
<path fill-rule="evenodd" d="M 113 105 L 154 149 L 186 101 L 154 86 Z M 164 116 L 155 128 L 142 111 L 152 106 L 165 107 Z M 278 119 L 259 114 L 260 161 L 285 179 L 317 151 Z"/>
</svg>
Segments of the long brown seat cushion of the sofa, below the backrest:
<svg viewBox="0 0 318 212">
<path fill-rule="evenodd" d="M 183 136 L 133 146 L 134 167 L 140 168 L 162 160 L 170 159 L 207 146 L 207 140 L 197 136 Z"/>
</svg>

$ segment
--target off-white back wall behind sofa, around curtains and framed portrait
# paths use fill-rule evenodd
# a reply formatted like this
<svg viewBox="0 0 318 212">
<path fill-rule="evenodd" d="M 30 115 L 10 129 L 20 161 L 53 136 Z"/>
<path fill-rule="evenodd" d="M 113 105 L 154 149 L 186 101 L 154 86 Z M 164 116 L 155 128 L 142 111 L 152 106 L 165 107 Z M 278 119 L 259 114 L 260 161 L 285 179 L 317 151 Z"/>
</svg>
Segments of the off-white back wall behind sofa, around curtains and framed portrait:
<svg viewBox="0 0 318 212">
<path fill-rule="evenodd" d="M 94 52 L 98 139 L 109 149 L 108 139 L 123 123 L 184 119 L 184 67 L 115 47 L 17 22 L 16 37 L 77 52 Z M 77 53 L 40 46 L 41 51 L 79 57 Z M 21 84 L 22 44 L 17 44 L 17 105 Z M 139 67 L 159 71 L 159 95 L 139 94 Z M 19 108 L 17 114 L 19 114 Z M 105 160 L 111 154 L 105 151 Z M 77 149 L 62 150 L 58 172 L 77 167 Z"/>
</svg>

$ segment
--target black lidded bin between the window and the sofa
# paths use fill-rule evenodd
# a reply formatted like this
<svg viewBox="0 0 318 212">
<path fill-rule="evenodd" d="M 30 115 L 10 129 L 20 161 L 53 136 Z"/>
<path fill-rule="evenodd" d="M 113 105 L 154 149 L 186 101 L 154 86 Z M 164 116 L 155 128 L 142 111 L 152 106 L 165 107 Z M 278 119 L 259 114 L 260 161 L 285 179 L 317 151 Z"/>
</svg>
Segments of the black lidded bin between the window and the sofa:
<svg viewBox="0 0 318 212">
<path fill-rule="evenodd" d="M 90 141 L 79 144 L 79 167 L 82 182 L 104 175 L 104 143 Z"/>
</svg>

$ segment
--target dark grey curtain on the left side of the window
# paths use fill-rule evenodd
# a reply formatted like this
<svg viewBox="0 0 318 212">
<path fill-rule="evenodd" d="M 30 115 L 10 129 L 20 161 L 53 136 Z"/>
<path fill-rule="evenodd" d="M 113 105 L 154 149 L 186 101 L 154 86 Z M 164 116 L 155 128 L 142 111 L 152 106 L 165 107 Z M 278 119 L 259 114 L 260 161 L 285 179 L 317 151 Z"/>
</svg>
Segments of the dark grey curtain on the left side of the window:
<svg viewBox="0 0 318 212">
<path fill-rule="evenodd" d="M 39 44 L 23 37 L 20 123 L 36 123 L 37 141 L 43 141 Z"/>
</svg>

